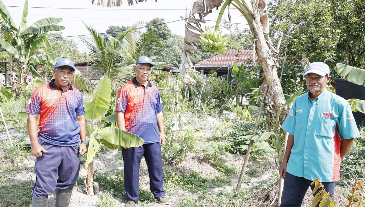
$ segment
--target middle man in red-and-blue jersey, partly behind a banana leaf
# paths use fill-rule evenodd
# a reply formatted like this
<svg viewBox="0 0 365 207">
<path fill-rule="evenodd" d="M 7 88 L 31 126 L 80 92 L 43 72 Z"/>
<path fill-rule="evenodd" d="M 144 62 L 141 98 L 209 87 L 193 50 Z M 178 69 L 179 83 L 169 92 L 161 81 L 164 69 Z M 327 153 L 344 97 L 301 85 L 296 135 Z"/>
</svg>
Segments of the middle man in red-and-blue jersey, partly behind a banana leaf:
<svg viewBox="0 0 365 207">
<path fill-rule="evenodd" d="M 165 198 L 164 173 L 162 171 L 161 145 L 166 142 L 164 130 L 164 106 L 158 88 L 149 81 L 154 67 L 152 60 L 141 56 L 134 70 L 137 77 L 124 84 L 118 93 L 116 120 L 118 128 L 137 134 L 145 140 L 142 147 L 123 147 L 124 187 L 130 199 L 126 207 L 133 207 L 139 198 L 139 167 L 145 157 L 150 176 L 150 189 L 156 201 L 169 204 Z"/>
</svg>

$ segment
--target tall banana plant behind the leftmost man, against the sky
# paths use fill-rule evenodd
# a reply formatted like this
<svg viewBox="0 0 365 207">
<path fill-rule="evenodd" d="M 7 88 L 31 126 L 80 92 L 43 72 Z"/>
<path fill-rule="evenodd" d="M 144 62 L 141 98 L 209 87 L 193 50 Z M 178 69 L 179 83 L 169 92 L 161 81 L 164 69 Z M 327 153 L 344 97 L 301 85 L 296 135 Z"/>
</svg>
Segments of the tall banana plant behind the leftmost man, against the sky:
<svg viewBox="0 0 365 207">
<path fill-rule="evenodd" d="M 48 17 L 27 26 L 28 0 L 25 0 L 22 20 L 17 27 L 3 1 L 0 0 L 0 27 L 3 38 L 0 38 L 0 51 L 6 50 L 10 56 L 10 70 L 17 71 L 20 82 L 31 83 L 34 77 L 41 75 L 30 64 L 56 58 L 57 52 L 41 54 L 38 47 L 46 39 L 54 38 L 47 34 L 49 31 L 64 30 L 65 27 L 58 25 L 61 18 Z M 16 63 L 16 64 L 14 64 Z M 15 65 L 18 68 L 15 68 Z"/>
</svg>

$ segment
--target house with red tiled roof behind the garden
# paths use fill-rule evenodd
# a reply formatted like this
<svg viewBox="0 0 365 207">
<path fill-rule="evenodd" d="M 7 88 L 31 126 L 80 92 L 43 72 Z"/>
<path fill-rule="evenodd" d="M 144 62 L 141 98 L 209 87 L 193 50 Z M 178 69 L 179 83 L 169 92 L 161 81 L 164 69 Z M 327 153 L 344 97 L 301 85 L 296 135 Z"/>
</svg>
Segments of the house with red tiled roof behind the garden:
<svg viewBox="0 0 365 207">
<path fill-rule="evenodd" d="M 217 72 L 217 76 L 227 75 L 228 70 L 233 67 L 234 63 L 237 63 L 238 66 L 243 64 L 244 67 L 257 66 L 257 64 L 253 61 L 253 55 L 252 50 L 231 50 L 226 54 L 218 54 L 196 63 L 194 69 L 199 71 L 201 74 L 208 74 L 209 71 L 214 70 Z M 255 60 L 257 60 L 256 54 Z"/>
</svg>

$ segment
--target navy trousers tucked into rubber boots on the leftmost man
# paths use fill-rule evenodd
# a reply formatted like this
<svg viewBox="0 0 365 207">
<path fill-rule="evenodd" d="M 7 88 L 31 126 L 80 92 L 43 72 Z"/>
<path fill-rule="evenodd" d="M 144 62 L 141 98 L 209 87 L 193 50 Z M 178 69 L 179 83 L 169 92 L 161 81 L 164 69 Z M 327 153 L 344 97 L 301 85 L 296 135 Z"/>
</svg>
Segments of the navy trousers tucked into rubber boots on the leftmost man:
<svg viewBox="0 0 365 207">
<path fill-rule="evenodd" d="M 35 159 L 34 172 L 37 177 L 32 196 L 43 197 L 53 194 L 56 188 L 73 187 L 80 170 L 78 145 L 61 147 L 41 139 L 38 142 L 47 152 L 43 152 L 41 157 Z"/>
</svg>

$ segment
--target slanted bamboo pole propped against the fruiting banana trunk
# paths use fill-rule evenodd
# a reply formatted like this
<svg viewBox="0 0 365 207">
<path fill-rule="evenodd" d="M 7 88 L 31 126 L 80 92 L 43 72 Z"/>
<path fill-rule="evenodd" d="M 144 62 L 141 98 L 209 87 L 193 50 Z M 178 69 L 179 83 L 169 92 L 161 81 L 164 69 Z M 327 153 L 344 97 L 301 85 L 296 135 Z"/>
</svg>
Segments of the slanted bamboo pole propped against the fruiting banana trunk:
<svg viewBox="0 0 365 207">
<path fill-rule="evenodd" d="M 253 133 L 252 133 L 253 136 L 256 135 L 257 128 L 258 128 L 258 124 L 260 123 L 260 118 L 261 118 L 262 110 L 264 110 L 264 105 L 265 105 L 264 101 L 266 99 L 266 96 L 268 95 L 268 88 L 269 88 L 269 85 L 266 85 L 265 92 L 264 92 L 264 96 L 262 97 L 262 101 L 261 101 L 261 104 L 260 104 L 260 110 L 258 111 L 258 114 L 257 114 L 255 127 L 253 129 Z M 254 140 L 250 140 L 249 147 L 247 148 L 247 152 L 246 152 L 246 156 L 245 156 L 245 161 L 243 161 L 241 174 L 239 175 L 239 179 L 238 179 L 238 183 L 237 183 L 237 187 L 236 187 L 236 192 L 239 192 L 241 190 L 242 179 L 243 179 L 243 175 L 246 172 L 247 163 L 248 163 L 248 161 L 250 159 L 250 153 L 251 153 L 251 149 L 252 149 L 253 142 L 254 142 Z"/>
</svg>

